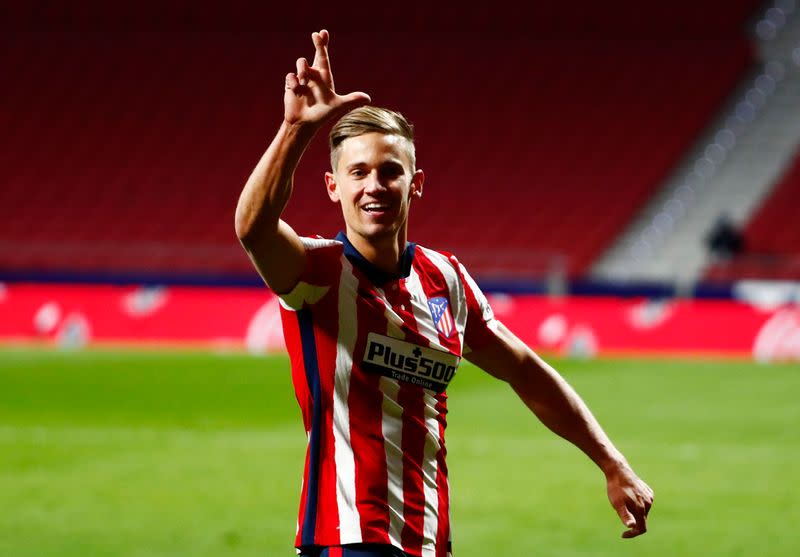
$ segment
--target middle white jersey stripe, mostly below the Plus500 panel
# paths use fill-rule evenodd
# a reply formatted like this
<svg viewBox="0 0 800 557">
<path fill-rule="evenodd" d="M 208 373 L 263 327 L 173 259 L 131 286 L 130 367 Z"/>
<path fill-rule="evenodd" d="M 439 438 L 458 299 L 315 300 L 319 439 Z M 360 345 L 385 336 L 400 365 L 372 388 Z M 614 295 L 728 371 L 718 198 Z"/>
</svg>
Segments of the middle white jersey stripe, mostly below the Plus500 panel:
<svg viewBox="0 0 800 557">
<path fill-rule="evenodd" d="M 388 310 L 388 308 L 387 308 Z M 387 311 L 388 313 L 388 311 Z M 387 315 L 387 319 L 388 319 Z M 389 319 L 386 334 L 394 338 L 404 338 L 400 327 Z M 383 391 L 383 447 L 386 452 L 386 471 L 388 475 L 389 541 L 392 545 L 403 547 L 403 409 L 398 402 L 400 383 L 388 377 L 380 378 Z"/>
</svg>

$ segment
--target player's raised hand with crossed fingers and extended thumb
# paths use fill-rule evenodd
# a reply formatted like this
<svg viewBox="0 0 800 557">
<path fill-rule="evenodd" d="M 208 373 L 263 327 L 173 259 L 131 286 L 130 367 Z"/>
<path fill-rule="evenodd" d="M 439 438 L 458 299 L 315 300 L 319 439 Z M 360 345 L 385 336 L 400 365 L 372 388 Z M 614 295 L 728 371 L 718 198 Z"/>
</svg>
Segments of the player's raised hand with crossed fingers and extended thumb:
<svg viewBox="0 0 800 557">
<path fill-rule="evenodd" d="M 370 102 L 366 93 L 336 93 L 328 58 L 330 35 L 323 29 L 312 33 L 311 39 L 316 49 L 314 63 L 309 66 L 305 58 L 298 58 L 297 72 L 286 75 L 283 119 L 287 124 L 320 124 Z"/>
</svg>

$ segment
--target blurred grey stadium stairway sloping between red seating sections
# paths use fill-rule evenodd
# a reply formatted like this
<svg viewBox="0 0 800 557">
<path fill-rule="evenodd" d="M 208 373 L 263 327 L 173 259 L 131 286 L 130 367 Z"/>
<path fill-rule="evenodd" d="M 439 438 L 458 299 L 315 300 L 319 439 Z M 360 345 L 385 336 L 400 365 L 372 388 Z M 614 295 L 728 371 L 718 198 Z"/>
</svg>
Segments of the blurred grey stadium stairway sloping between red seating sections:
<svg viewBox="0 0 800 557">
<path fill-rule="evenodd" d="M 754 31 L 768 58 L 593 266 L 594 277 L 693 284 L 713 264 L 705 239 L 717 218 L 745 226 L 770 196 L 800 145 L 800 15 L 780 19 L 775 10 Z"/>
</svg>

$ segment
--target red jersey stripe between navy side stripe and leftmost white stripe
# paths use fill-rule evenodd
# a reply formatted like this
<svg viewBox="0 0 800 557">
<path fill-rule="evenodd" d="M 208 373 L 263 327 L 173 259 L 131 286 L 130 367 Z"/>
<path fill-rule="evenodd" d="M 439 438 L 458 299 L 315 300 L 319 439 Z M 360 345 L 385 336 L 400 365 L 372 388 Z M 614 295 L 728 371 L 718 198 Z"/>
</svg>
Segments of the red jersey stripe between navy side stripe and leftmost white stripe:
<svg viewBox="0 0 800 557">
<path fill-rule="evenodd" d="M 312 306 L 311 311 L 316 322 L 322 327 L 314 327 L 314 339 L 317 347 L 317 362 L 320 373 L 320 392 L 322 400 L 322 431 L 319 432 L 319 496 L 317 498 L 317 520 L 314 540 L 320 545 L 338 544 L 338 537 L 332 537 L 339 531 L 339 509 L 336 500 L 336 462 L 329 458 L 334 454 L 333 437 L 333 392 L 334 374 L 336 371 L 336 338 L 338 335 L 328 334 L 331 327 L 337 327 L 339 308 L 338 288 L 331 288 L 325 297 Z M 326 535 L 327 534 L 327 535 Z"/>
</svg>

